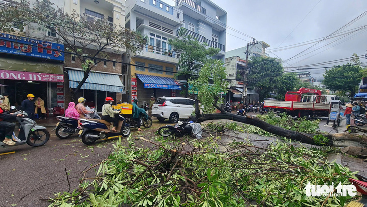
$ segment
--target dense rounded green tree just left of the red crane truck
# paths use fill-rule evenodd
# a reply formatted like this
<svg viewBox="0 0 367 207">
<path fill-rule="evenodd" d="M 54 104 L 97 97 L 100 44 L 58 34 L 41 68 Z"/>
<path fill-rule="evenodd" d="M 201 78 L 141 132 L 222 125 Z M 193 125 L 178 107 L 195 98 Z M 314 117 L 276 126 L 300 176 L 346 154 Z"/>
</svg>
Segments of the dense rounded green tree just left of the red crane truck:
<svg viewBox="0 0 367 207">
<path fill-rule="evenodd" d="M 283 68 L 279 59 L 271 57 L 251 57 L 248 62 L 248 86 L 259 92 L 260 100 L 268 98 L 280 83 Z"/>
</svg>

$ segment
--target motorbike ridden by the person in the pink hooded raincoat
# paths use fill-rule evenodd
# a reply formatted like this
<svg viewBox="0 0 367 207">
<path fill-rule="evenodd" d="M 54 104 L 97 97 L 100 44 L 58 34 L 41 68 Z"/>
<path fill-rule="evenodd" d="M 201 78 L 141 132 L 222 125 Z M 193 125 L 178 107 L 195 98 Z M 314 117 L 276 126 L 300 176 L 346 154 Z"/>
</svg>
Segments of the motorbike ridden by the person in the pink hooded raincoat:
<svg viewBox="0 0 367 207">
<path fill-rule="evenodd" d="M 78 129 L 78 119 L 64 117 L 64 116 L 56 116 L 56 119 L 59 121 L 56 124 L 56 127 L 52 130 L 56 130 L 56 136 L 60 139 L 66 139 L 73 134 L 77 134 L 80 129 Z"/>
</svg>

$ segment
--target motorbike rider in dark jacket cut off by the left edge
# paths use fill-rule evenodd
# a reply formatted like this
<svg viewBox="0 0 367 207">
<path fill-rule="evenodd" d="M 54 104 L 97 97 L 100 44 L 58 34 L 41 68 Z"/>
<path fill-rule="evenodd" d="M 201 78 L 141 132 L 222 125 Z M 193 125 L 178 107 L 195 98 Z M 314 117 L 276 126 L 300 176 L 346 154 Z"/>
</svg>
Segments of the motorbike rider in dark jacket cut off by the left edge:
<svg viewBox="0 0 367 207">
<path fill-rule="evenodd" d="M 5 98 L 3 95 L 0 95 L 0 105 L 5 105 L 4 102 Z M 17 137 L 13 136 L 14 139 L 12 140 L 12 135 L 14 134 L 15 124 L 8 122 L 6 120 L 14 120 L 17 116 L 23 116 L 22 114 L 8 114 L 4 113 L 3 109 L 0 108 L 0 128 L 5 129 L 5 139 L 2 141 L 7 145 L 15 145 L 14 141 L 20 141 Z"/>
</svg>

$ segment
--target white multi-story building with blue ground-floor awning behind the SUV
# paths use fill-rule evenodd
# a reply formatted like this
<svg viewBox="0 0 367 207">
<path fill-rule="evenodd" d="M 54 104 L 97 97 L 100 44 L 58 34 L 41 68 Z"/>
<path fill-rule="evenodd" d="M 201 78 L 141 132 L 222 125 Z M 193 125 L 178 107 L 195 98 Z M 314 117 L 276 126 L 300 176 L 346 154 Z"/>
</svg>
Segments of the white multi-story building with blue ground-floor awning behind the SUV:
<svg viewBox="0 0 367 207">
<path fill-rule="evenodd" d="M 177 29 L 183 21 L 183 12 L 160 0 L 127 0 L 126 28 L 146 38 L 141 51 L 127 52 L 124 61 L 130 86 L 124 99 L 138 98 L 143 104 L 151 96 L 175 96 L 181 86 L 173 79 L 179 54 L 168 43 L 177 38 Z"/>
</svg>

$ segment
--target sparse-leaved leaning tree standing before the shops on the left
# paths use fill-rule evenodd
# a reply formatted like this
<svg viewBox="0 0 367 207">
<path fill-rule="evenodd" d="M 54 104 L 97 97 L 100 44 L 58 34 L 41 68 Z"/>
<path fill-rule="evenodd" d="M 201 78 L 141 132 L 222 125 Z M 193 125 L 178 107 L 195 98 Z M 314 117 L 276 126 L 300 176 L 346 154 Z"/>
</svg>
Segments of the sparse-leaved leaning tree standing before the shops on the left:
<svg viewBox="0 0 367 207">
<path fill-rule="evenodd" d="M 144 40 L 141 35 L 121 25 L 111 24 L 107 18 L 91 18 L 73 10 L 64 13 L 63 8 L 56 7 L 51 1 L 36 0 L 31 6 L 28 1 L 21 0 L 0 8 L 0 30 L 14 32 L 15 24 L 24 31 L 43 30 L 56 33 L 56 37 L 45 38 L 65 44 L 65 55 L 73 55 L 82 63 L 84 78 L 79 82 L 75 94 L 89 77 L 93 67 L 108 59 L 109 54 L 121 53 L 121 48 L 139 49 Z M 97 59 L 96 63 L 94 59 Z"/>
</svg>

